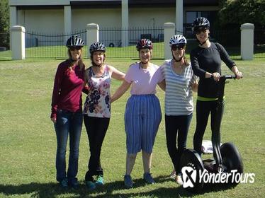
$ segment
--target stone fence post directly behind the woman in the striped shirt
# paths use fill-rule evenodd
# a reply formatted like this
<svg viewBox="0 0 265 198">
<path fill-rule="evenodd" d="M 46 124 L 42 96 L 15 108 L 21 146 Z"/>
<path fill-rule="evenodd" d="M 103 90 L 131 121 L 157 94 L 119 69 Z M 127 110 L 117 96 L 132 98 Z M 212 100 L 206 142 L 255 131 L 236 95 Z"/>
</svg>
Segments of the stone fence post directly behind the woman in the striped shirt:
<svg viewBox="0 0 265 198">
<path fill-rule="evenodd" d="M 175 23 L 164 23 L 164 59 L 171 59 L 170 38 L 175 35 Z"/>
</svg>

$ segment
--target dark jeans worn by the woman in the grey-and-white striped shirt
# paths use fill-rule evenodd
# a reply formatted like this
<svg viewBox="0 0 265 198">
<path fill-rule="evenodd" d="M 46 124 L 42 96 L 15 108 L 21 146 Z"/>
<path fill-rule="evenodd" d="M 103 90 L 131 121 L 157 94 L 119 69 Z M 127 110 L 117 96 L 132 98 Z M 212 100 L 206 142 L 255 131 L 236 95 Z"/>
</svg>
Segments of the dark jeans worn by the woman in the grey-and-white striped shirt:
<svg viewBox="0 0 265 198">
<path fill-rule="evenodd" d="M 190 115 L 165 115 L 167 151 L 176 170 L 176 174 L 181 173 L 180 161 L 183 151 L 186 149 L 188 128 L 191 124 L 192 113 Z M 176 147 L 176 135 L 178 135 L 178 147 Z"/>
</svg>

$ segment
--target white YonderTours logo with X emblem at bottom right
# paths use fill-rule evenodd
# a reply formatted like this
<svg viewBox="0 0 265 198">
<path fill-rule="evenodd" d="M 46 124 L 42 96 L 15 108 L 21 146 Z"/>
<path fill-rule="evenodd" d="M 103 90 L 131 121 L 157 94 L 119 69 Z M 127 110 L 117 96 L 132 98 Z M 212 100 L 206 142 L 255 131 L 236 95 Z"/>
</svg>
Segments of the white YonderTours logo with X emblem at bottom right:
<svg viewBox="0 0 265 198">
<path fill-rule="evenodd" d="M 238 173 L 237 170 L 231 170 L 230 173 L 223 173 L 222 169 L 218 170 L 218 173 L 209 173 L 206 169 L 196 170 L 192 163 L 184 166 L 181 169 L 183 187 L 194 187 L 197 177 L 198 182 L 212 183 L 212 184 L 224 184 L 228 182 L 232 183 L 254 183 L 254 173 Z"/>
</svg>

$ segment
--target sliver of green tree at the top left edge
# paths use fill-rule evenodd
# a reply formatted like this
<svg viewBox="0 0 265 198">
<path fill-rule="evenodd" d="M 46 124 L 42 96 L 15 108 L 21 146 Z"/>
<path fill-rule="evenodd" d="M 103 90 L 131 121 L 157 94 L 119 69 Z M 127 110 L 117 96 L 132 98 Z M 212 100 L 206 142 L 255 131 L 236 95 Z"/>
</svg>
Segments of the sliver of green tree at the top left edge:
<svg viewBox="0 0 265 198">
<path fill-rule="evenodd" d="M 9 48 L 9 1 L 0 1 L 0 46 Z"/>
</svg>

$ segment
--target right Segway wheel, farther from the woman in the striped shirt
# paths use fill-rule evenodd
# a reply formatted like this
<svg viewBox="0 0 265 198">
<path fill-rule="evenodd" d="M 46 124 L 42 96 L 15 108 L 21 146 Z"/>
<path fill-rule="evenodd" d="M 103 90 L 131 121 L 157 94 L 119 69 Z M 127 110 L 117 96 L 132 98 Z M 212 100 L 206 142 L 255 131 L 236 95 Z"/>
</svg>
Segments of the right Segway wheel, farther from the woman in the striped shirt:
<svg viewBox="0 0 265 198">
<path fill-rule="evenodd" d="M 244 166 L 242 158 L 234 144 L 230 142 L 222 144 L 220 147 L 220 153 L 222 156 L 222 164 L 227 168 L 227 173 L 231 173 L 231 170 L 237 170 L 237 173 L 243 173 Z M 232 183 L 232 180 L 230 180 L 230 184 L 237 185 L 238 183 Z"/>
</svg>

